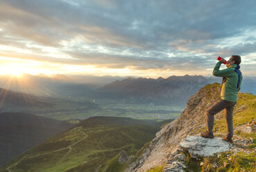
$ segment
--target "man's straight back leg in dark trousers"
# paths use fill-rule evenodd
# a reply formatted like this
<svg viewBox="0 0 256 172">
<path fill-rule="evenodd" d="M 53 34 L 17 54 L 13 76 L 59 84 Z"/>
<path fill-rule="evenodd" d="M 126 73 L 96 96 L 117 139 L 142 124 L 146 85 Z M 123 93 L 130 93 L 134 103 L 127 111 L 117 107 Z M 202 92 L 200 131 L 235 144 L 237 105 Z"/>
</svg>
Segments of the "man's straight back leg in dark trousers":
<svg viewBox="0 0 256 172">
<path fill-rule="evenodd" d="M 230 139 L 233 137 L 233 111 L 234 111 L 234 105 L 237 102 L 230 103 L 230 107 L 225 108 L 225 121 L 227 122 L 227 137 Z"/>
</svg>

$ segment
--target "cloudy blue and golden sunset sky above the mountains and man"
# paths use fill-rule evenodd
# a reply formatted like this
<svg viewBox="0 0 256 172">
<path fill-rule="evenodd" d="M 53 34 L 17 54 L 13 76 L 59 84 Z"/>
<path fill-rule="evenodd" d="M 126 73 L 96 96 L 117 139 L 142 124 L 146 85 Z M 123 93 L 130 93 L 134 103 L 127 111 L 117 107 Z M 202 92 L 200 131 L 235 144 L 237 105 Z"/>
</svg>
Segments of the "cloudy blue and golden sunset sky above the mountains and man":
<svg viewBox="0 0 256 172">
<path fill-rule="evenodd" d="M 0 74 L 256 75 L 256 1 L 1 0 Z M 221 69 L 225 69 L 222 65 Z"/>
</svg>

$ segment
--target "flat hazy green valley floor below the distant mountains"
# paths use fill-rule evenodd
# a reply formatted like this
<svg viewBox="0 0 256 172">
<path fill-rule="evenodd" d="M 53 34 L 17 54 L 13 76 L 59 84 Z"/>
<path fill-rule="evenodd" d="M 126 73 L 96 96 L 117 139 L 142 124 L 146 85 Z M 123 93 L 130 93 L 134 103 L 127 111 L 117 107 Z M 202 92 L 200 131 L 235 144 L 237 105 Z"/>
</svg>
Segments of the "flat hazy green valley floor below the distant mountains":
<svg viewBox="0 0 256 172">
<path fill-rule="evenodd" d="M 3 101 L 0 112 L 23 112 L 51 117 L 58 120 L 87 119 L 94 116 L 131 117 L 135 119 L 173 119 L 184 107 L 154 105 L 153 103 L 126 103 L 110 99 L 69 100 L 27 94 L 23 105 Z"/>
</svg>

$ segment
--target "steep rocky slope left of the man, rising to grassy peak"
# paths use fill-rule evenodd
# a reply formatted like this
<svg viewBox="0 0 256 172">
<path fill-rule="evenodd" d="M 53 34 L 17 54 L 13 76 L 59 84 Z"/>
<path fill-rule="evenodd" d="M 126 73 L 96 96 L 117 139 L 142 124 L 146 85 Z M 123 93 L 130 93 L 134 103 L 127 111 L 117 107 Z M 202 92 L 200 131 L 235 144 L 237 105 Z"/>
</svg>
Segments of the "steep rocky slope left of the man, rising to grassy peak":
<svg viewBox="0 0 256 172">
<path fill-rule="evenodd" d="M 191 96 L 187 101 L 187 108 L 180 117 L 157 132 L 142 156 L 130 164 L 126 171 L 148 171 L 173 159 L 173 153 L 180 148 L 180 142 L 205 127 L 205 110 L 219 98 L 219 92 L 220 85 L 215 83 L 201 88 Z M 220 114 L 215 116 L 218 117 Z"/>
</svg>

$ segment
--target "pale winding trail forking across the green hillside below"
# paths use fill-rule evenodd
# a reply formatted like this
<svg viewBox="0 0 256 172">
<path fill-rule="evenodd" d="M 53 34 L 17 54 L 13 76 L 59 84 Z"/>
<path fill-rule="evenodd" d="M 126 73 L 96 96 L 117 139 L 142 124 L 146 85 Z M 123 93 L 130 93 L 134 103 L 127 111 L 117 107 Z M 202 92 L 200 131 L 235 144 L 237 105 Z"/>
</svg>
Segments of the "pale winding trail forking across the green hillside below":
<svg viewBox="0 0 256 172">
<path fill-rule="evenodd" d="M 60 161 L 56 164 L 60 164 L 62 162 L 62 160 L 65 159 L 65 157 L 67 157 L 67 155 L 69 155 L 69 153 L 71 152 L 72 150 L 72 146 L 75 146 L 76 144 L 78 144 L 80 141 L 83 141 L 84 139 L 86 139 L 88 137 L 88 135 L 85 134 L 85 132 L 81 131 L 81 130 L 78 130 L 79 132 L 82 132 L 83 135 L 85 135 L 85 137 L 83 137 L 83 139 L 80 139 L 78 141 L 76 141 L 74 144 L 71 144 L 69 146 L 67 146 L 66 148 L 60 148 L 58 150 L 53 150 L 51 152 L 48 152 L 48 153 L 39 153 L 37 155 L 32 155 L 32 156 L 28 156 L 28 155 L 25 155 L 24 157 L 22 157 L 22 160 L 26 159 L 26 158 L 31 158 L 31 157 L 38 157 L 40 155 L 47 155 L 47 154 L 51 154 L 51 153 L 56 153 L 56 152 L 59 152 L 61 150 L 65 150 L 65 149 L 69 149 L 69 151 L 60 159 Z M 19 164 L 19 162 L 22 162 L 22 160 L 19 160 L 18 162 L 8 166 L 8 168 L 6 169 L 8 172 L 11 172 L 12 170 L 12 166 L 16 166 L 17 164 Z M 56 165 L 55 164 L 55 165 Z"/>
</svg>

